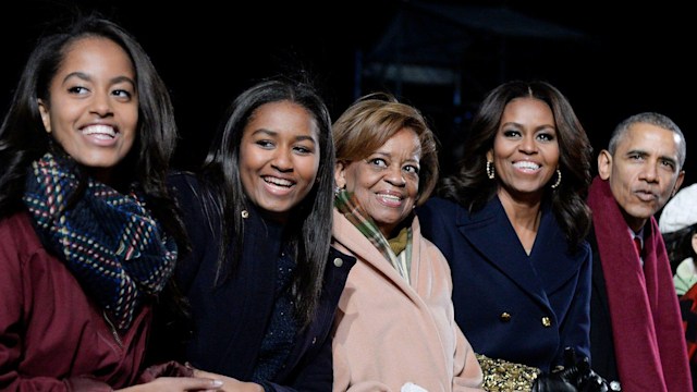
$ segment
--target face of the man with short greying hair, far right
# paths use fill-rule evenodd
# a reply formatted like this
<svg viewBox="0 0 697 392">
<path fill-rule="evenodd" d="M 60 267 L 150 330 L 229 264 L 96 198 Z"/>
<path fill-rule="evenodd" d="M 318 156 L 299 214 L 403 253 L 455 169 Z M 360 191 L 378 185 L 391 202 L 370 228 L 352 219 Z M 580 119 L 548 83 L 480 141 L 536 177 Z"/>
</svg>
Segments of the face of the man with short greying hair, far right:
<svg viewBox="0 0 697 392">
<path fill-rule="evenodd" d="M 680 136 L 669 130 L 635 123 L 617 144 L 614 155 L 600 151 L 598 174 L 609 181 L 624 219 L 635 232 L 683 183 L 680 143 Z"/>
</svg>

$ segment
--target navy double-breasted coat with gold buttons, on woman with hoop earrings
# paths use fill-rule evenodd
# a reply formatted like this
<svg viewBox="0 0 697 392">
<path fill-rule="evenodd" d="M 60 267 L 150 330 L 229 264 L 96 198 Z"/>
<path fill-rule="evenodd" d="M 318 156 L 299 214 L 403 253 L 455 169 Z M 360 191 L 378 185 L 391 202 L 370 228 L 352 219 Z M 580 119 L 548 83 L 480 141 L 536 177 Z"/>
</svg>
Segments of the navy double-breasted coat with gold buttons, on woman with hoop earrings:
<svg viewBox="0 0 697 392">
<path fill-rule="evenodd" d="M 529 257 L 498 197 L 472 215 L 433 197 L 417 213 L 450 262 L 455 320 L 475 352 L 543 371 L 566 346 L 589 355 L 590 246 L 570 254 L 549 205 Z"/>
</svg>

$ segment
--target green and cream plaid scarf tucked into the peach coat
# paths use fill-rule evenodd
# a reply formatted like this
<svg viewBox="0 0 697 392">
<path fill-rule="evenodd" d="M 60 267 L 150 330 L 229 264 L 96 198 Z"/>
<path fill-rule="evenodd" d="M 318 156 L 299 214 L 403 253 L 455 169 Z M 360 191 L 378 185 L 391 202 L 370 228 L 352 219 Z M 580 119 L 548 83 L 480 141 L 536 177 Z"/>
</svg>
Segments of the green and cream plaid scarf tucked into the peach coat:
<svg viewBox="0 0 697 392">
<path fill-rule="evenodd" d="M 358 229 L 363 235 L 370 241 L 372 245 L 384 256 L 384 258 L 392 264 L 392 267 L 396 269 L 400 275 L 409 283 L 409 270 L 412 268 L 412 230 L 403 229 L 400 234 L 392 241 L 392 244 L 405 243 L 406 252 L 395 252 L 390 246 L 390 242 L 382 235 L 380 229 L 378 229 L 375 221 L 365 213 L 360 205 L 352 193 L 342 189 L 334 197 L 334 206 L 339 212 L 343 213 L 346 219 Z M 404 236 L 406 230 L 406 241 L 399 241 Z"/>
</svg>

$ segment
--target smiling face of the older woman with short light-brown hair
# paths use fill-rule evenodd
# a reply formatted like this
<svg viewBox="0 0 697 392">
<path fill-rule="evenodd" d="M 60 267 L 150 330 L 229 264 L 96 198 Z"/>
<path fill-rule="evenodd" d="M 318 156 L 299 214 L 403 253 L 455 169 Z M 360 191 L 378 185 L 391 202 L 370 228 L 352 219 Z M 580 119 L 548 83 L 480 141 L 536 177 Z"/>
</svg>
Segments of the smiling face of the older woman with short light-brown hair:
<svg viewBox="0 0 697 392">
<path fill-rule="evenodd" d="M 420 157 L 416 132 L 402 128 L 367 158 L 337 163 L 337 184 L 355 194 L 387 238 L 414 209 Z"/>
</svg>

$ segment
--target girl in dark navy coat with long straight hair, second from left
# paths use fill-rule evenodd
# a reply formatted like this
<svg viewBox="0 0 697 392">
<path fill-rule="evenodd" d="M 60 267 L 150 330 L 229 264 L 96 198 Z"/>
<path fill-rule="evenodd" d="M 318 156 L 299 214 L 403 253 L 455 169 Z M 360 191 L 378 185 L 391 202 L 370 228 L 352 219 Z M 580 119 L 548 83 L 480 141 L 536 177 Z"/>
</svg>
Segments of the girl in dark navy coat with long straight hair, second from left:
<svg viewBox="0 0 697 392">
<path fill-rule="evenodd" d="M 330 249 L 334 147 L 310 84 L 260 82 L 232 103 L 198 175 L 171 176 L 193 250 L 178 358 L 225 390 L 330 391 L 330 330 L 351 257 Z"/>
</svg>

